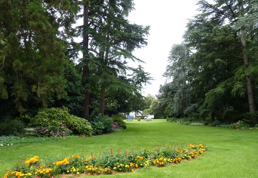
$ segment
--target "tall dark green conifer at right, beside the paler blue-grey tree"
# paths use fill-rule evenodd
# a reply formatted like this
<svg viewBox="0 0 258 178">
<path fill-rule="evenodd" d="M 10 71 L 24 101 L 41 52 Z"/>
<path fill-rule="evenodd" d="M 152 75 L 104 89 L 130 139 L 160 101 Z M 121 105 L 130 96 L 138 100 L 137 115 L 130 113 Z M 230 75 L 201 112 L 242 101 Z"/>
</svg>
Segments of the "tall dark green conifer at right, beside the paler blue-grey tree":
<svg viewBox="0 0 258 178">
<path fill-rule="evenodd" d="M 210 75 L 203 77 L 208 80 L 202 88 L 207 88 L 203 104 L 208 107 L 212 120 L 214 111 L 218 107 L 218 99 L 223 101 L 230 98 L 227 97 L 230 92 L 235 97 L 247 94 L 249 111 L 256 111 L 252 76 L 258 74 L 258 70 L 254 67 L 257 59 L 253 55 L 257 49 L 252 45 L 252 39 L 257 36 L 255 33 L 257 26 L 253 26 L 252 30 L 247 30 L 244 25 L 235 28 L 241 17 L 253 13 L 251 7 L 257 2 L 254 0 L 214 0 L 214 2 L 210 4 L 205 0 L 198 1 L 201 13 L 189 21 L 188 31 L 184 36 L 186 43 L 196 50 L 192 61 L 193 64 L 197 64 L 196 72 L 202 76 L 205 73 Z M 247 38 L 247 35 L 250 38 Z M 204 82 L 199 79 L 200 82 Z M 194 80 L 195 83 L 196 81 L 198 79 Z M 234 101 L 228 100 L 224 106 L 229 103 L 232 106 L 232 102 Z"/>
</svg>

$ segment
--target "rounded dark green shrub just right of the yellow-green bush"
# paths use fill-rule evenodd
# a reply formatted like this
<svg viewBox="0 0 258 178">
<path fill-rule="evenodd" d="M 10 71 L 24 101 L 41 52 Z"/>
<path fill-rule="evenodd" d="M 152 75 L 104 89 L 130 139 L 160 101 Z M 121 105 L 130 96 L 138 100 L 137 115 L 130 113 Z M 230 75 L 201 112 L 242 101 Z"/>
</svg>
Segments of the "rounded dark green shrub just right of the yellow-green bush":
<svg viewBox="0 0 258 178">
<path fill-rule="evenodd" d="M 94 135 L 112 133 L 115 131 L 113 126 L 113 119 L 102 114 L 99 114 L 97 117 L 92 119 L 90 123 L 92 125 Z"/>
</svg>

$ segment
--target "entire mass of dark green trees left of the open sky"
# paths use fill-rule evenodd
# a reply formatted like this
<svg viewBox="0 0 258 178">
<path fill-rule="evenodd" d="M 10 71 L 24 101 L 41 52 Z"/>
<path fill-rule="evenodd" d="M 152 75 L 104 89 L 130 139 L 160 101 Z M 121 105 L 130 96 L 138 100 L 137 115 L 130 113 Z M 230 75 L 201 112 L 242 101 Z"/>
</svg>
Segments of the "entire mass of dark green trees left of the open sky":
<svg viewBox="0 0 258 178">
<path fill-rule="evenodd" d="M 142 62 L 132 52 L 147 44 L 149 26 L 128 21 L 133 5 L 132 0 L 0 1 L 1 116 L 34 116 L 41 107 L 62 106 L 86 118 L 96 108 L 109 115 L 140 110 L 141 87 L 151 77 L 128 60 Z M 83 25 L 75 27 L 81 17 Z"/>
</svg>

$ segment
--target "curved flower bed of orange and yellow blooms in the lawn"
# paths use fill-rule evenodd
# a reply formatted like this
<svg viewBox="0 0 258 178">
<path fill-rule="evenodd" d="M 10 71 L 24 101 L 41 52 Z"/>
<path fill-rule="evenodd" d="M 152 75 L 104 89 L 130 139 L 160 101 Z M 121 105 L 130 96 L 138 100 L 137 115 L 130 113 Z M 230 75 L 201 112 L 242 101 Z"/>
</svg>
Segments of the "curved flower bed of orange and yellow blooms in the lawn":
<svg viewBox="0 0 258 178">
<path fill-rule="evenodd" d="M 15 166 L 15 170 L 7 172 L 4 178 L 49 178 L 60 174 L 114 174 L 117 172 L 133 172 L 139 168 L 149 166 L 163 167 L 168 164 L 178 164 L 182 160 L 195 159 L 205 154 L 206 148 L 199 144 L 163 145 L 152 149 L 136 148 L 131 150 L 117 150 L 112 148 L 102 150 L 98 156 L 93 153 L 84 156 L 60 156 L 50 160 L 39 160 L 38 156 L 22 160 Z"/>
</svg>

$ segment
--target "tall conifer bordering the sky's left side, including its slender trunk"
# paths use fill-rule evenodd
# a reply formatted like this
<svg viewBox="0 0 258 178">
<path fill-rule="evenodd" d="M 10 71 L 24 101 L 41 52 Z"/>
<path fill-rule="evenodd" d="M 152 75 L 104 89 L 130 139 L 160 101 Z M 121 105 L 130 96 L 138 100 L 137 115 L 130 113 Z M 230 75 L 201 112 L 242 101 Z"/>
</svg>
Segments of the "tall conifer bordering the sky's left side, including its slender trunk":
<svg viewBox="0 0 258 178">
<path fill-rule="evenodd" d="M 128 59 L 139 60 L 132 51 L 147 44 L 145 35 L 149 27 L 130 24 L 127 20 L 132 9 L 132 0 L 91 0 L 89 4 L 88 56 L 95 65 L 91 76 L 100 88 L 99 111 L 102 114 L 107 87 L 114 92 L 118 89 L 132 92 L 124 87 L 120 76 L 126 76 L 131 69 L 127 66 Z"/>
</svg>

